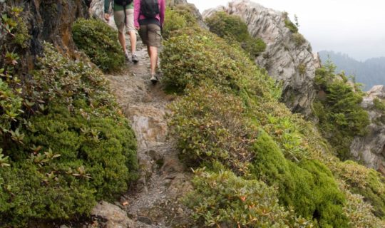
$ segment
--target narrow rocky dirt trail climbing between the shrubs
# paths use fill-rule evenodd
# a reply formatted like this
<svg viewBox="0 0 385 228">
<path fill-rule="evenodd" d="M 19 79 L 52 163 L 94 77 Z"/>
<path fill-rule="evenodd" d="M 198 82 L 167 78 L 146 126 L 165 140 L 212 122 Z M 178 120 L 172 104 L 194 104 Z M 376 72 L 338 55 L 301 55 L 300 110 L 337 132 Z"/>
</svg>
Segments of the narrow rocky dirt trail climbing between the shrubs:
<svg viewBox="0 0 385 228">
<path fill-rule="evenodd" d="M 149 58 L 141 43 L 137 55 L 138 63 L 129 62 L 127 71 L 106 78 L 135 131 L 140 180 L 120 202 L 101 202 L 92 214 L 102 227 L 191 227 L 180 203 L 191 189 L 190 175 L 178 160 L 175 142 L 168 139 L 165 119 L 167 105 L 175 97 L 165 94 L 161 83 L 150 82 Z"/>
</svg>

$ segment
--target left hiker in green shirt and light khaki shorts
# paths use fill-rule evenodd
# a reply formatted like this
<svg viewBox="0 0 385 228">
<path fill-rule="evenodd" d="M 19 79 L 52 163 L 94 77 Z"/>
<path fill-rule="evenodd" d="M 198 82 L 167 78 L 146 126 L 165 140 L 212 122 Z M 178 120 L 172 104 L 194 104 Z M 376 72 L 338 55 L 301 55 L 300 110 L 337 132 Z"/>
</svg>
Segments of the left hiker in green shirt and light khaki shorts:
<svg viewBox="0 0 385 228">
<path fill-rule="evenodd" d="M 113 1 L 113 19 L 115 20 L 116 27 L 118 27 L 118 38 L 119 42 L 122 45 L 125 59 L 128 61 L 128 51 L 125 48 L 125 31 L 128 35 L 130 35 L 130 43 L 131 43 L 131 53 L 132 53 L 132 61 L 134 63 L 138 63 L 139 59 L 136 56 L 136 32 L 133 21 L 133 1 L 126 6 L 119 5 L 116 0 L 104 0 L 104 19 L 106 21 L 110 21 L 109 9 L 111 5 L 111 1 Z M 123 11 L 125 8 L 125 12 Z M 125 30 L 125 31 L 124 31 Z"/>
</svg>

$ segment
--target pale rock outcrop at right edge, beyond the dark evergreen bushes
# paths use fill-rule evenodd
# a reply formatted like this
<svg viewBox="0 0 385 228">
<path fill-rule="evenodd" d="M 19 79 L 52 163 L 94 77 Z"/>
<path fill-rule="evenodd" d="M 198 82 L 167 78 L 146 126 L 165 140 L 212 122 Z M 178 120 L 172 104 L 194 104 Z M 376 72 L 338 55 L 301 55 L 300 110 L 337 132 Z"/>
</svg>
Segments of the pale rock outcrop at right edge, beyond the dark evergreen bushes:
<svg viewBox="0 0 385 228">
<path fill-rule="evenodd" d="M 385 175 L 385 111 L 376 107 L 376 99 L 385 99 L 385 86 L 374 86 L 364 97 L 361 106 L 369 113 L 369 132 L 364 137 L 354 138 L 350 151 L 356 160 Z"/>
</svg>

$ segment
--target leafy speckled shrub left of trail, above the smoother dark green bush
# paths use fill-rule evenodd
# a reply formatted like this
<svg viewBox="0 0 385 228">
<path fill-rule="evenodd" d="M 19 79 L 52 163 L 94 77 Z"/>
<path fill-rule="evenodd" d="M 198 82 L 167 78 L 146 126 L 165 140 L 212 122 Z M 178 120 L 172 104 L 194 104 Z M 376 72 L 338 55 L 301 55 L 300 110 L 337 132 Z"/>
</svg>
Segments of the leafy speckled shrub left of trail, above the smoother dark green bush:
<svg viewBox="0 0 385 228">
<path fill-rule="evenodd" d="M 24 93 L 34 103 L 35 112 L 44 103 L 58 100 L 71 110 L 92 107 L 87 111 L 93 115 L 115 116 L 118 113 L 116 100 L 101 71 L 86 62 L 63 57 L 51 44 L 45 43 L 44 56 L 39 58 L 33 75 L 34 80 L 29 82 L 31 85 Z"/>
</svg>

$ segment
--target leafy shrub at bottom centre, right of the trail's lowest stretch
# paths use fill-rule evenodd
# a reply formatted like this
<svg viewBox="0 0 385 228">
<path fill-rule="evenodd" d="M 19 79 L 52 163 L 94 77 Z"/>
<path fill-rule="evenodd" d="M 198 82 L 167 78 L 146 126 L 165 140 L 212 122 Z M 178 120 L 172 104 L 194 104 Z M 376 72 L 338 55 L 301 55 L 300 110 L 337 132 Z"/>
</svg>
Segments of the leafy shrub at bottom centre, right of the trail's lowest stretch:
<svg viewBox="0 0 385 228">
<path fill-rule="evenodd" d="M 274 188 L 264 182 L 244 180 L 230 171 L 200 170 L 193 185 L 186 201 L 205 227 L 312 227 L 280 207 Z"/>
</svg>

